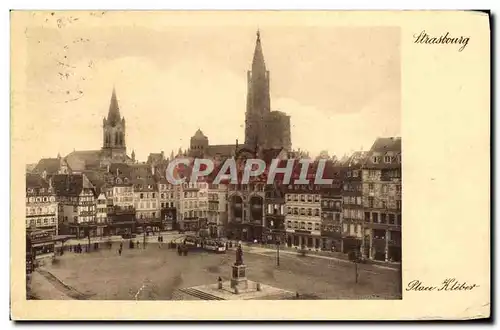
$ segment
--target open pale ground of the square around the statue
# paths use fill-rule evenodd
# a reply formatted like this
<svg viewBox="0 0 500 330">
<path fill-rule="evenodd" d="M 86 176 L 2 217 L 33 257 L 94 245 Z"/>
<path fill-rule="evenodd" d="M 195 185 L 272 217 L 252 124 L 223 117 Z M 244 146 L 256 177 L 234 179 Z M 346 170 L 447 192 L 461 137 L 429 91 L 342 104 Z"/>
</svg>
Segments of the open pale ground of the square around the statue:
<svg viewBox="0 0 500 330">
<path fill-rule="evenodd" d="M 142 244 L 141 244 L 142 246 Z M 177 252 L 156 243 L 146 249 L 129 249 L 124 244 L 118 255 L 118 243 L 111 249 L 75 254 L 65 253 L 58 262 L 44 269 L 65 286 L 89 299 L 169 300 L 180 288 L 215 283 L 220 276 L 229 280 L 234 251 L 227 254 Z M 355 283 L 355 265 L 335 259 L 280 254 L 266 249 L 245 249 L 247 277 L 253 281 L 299 292 L 319 299 L 398 299 L 399 274 L 392 270 L 359 265 Z M 38 290 L 44 292 L 44 290 Z M 40 297 L 44 299 L 44 297 Z M 50 298 L 45 298 L 50 299 Z"/>
</svg>

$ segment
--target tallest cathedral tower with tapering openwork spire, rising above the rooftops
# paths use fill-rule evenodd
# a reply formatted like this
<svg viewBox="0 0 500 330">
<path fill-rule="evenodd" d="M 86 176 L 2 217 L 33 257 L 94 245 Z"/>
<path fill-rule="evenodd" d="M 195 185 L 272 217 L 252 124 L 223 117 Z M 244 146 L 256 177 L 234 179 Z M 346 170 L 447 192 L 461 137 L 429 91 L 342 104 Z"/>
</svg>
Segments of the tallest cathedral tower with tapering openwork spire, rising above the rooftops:
<svg viewBox="0 0 500 330">
<path fill-rule="evenodd" d="M 252 70 L 247 72 L 247 80 L 245 145 L 253 148 L 257 144 L 265 143 L 266 141 L 265 118 L 271 111 L 269 71 L 266 69 L 259 31 L 257 31 Z"/>
</svg>

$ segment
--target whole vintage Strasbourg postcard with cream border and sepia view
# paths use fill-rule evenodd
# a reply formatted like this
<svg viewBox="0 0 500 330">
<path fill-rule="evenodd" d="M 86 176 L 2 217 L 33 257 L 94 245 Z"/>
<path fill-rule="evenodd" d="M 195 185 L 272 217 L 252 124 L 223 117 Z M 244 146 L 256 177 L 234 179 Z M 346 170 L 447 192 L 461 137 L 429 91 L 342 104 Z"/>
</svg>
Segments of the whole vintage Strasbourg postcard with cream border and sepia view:
<svg viewBox="0 0 500 330">
<path fill-rule="evenodd" d="M 12 11 L 12 318 L 488 318 L 490 60 L 477 11 Z"/>
</svg>

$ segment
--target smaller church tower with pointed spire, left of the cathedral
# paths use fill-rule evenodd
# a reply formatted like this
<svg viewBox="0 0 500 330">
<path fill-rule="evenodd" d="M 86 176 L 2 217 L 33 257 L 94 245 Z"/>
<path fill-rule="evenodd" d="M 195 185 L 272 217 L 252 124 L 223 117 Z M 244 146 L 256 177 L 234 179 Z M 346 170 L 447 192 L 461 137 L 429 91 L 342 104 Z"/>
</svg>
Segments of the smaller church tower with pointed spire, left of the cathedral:
<svg viewBox="0 0 500 330">
<path fill-rule="evenodd" d="M 120 107 L 113 88 L 109 104 L 108 118 L 102 122 L 103 143 L 102 151 L 106 158 L 116 161 L 126 159 L 127 147 L 125 144 L 125 118 L 120 115 Z"/>
</svg>

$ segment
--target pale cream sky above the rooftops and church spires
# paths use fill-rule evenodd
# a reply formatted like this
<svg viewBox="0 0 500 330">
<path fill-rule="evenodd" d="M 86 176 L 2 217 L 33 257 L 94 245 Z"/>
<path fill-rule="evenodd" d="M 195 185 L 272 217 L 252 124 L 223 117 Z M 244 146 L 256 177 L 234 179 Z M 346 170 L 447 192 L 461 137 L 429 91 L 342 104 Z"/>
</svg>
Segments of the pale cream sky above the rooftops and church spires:
<svg viewBox="0 0 500 330">
<path fill-rule="evenodd" d="M 127 152 L 141 161 L 188 148 L 198 128 L 210 144 L 242 143 L 258 28 L 271 109 L 291 116 L 294 149 L 342 156 L 401 135 L 399 28 L 169 24 L 158 15 L 118 15 L 31 16 L 22 91 L 27 163 L 100 149 L 113 87 Z"/>
</svg>

